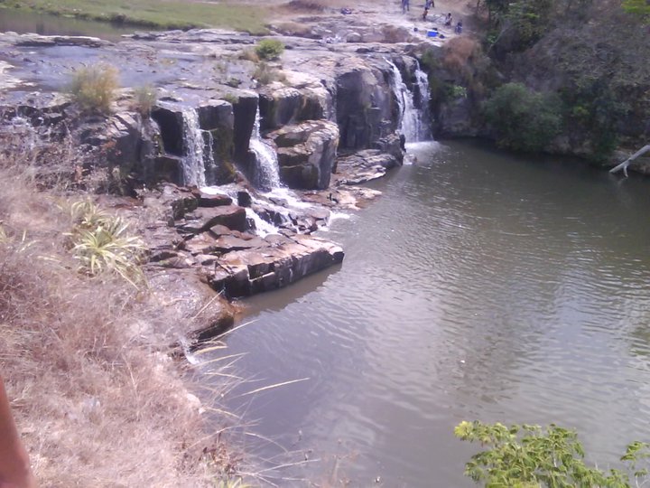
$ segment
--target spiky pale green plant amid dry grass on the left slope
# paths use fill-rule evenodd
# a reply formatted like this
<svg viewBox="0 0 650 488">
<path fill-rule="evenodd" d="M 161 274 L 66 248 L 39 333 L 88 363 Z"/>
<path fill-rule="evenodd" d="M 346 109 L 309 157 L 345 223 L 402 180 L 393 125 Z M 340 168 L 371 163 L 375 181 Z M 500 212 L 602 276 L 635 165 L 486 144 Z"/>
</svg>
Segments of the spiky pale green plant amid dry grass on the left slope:
<svg viewBox="0 0 650 488">
<path fill-rule="evenodd" d="M 100 211 L 92 202 L 74 203 L 71 214 L 70 251 L 79 262 L 79 271 L 92 277 L 116 273 L 135 287 L 144 282 L 138 266 L 144 242 L 128 235 L 123 219 Z"/>
</svg>

